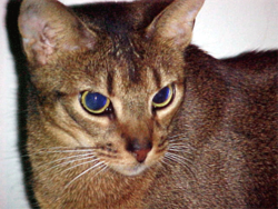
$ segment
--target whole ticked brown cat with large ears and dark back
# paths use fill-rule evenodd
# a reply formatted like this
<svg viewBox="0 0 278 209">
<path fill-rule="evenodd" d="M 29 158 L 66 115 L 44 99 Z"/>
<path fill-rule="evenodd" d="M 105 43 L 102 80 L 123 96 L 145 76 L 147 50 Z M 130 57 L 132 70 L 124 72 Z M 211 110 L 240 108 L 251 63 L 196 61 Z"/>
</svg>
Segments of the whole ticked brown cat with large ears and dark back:
<svg viewBox="0 0 278 209">
<path fill-rule="evenodd" d="M 190 44 L 203 0 L 23 0 L 40 208 L 276 208 L 278 52 Z"/>
</svg>

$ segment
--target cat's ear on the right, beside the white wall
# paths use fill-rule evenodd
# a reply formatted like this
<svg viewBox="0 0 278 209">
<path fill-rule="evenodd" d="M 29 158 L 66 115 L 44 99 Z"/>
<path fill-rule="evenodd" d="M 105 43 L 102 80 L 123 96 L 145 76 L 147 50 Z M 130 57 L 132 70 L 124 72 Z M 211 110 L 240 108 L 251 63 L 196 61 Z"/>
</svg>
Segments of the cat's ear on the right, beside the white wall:
<svg viewBox="0 0 278 209">
<path fill-rule="evenodd" d="M 146 30 L 149 39 L 183 50 L 191 41 L 195 19 L 205 0 L 175 0 Z"/>
</svg>

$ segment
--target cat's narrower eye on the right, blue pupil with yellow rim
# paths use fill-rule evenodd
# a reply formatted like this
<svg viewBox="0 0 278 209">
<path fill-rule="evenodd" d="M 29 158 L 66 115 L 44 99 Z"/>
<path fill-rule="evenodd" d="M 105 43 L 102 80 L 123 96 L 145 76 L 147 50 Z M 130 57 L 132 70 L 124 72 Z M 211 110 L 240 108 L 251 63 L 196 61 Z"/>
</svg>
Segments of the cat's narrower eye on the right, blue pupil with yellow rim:
<svg viewBox="0 0 278 209">
<path fill-rule="evenodd" d="M 162 88 L 152 99 L 152 106 L 155 108 L 163 108 L 170 103 L 173 97 L 173 89 L 171 84 Z"/>
</svg>

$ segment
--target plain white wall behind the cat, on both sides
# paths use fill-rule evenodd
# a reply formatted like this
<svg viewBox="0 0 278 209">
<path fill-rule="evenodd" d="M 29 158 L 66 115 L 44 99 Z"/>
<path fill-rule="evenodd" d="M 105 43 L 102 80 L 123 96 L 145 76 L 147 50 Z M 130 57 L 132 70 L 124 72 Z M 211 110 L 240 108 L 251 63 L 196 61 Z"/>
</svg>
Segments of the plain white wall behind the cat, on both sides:
<svg viewBox="0 0 278 209">
<path fill-rule="evenodd" d="M 18 83 L 4 23 L 8 0 L 0 1 L 0 209 L 28 209 L 17 152 Z M 92 1 L 61 0 L 67 4 Z M 278 0 L 207 0 L 192 41 L 218 58 L 277 49 Z"/>
</svg>

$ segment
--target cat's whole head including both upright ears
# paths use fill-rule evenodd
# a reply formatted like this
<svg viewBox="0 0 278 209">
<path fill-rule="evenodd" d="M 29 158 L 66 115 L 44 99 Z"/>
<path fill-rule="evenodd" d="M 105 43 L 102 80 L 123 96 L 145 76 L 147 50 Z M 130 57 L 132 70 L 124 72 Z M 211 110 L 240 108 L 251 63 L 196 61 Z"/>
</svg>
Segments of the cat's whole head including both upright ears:
<svg viewBox="0 0 278 209">
<path fill-rule="evenodd" d="M 202 3 L 176 0 L 148 27 L 130 29 L 89 22 L 54 0 L 24 0 L 19 28 L 40 119 L 29 127 L 44 136 L 33 147 L 91 148 L 128 176 L 160 161 L 182 104 L 183 50 Z"/>
</svg>

